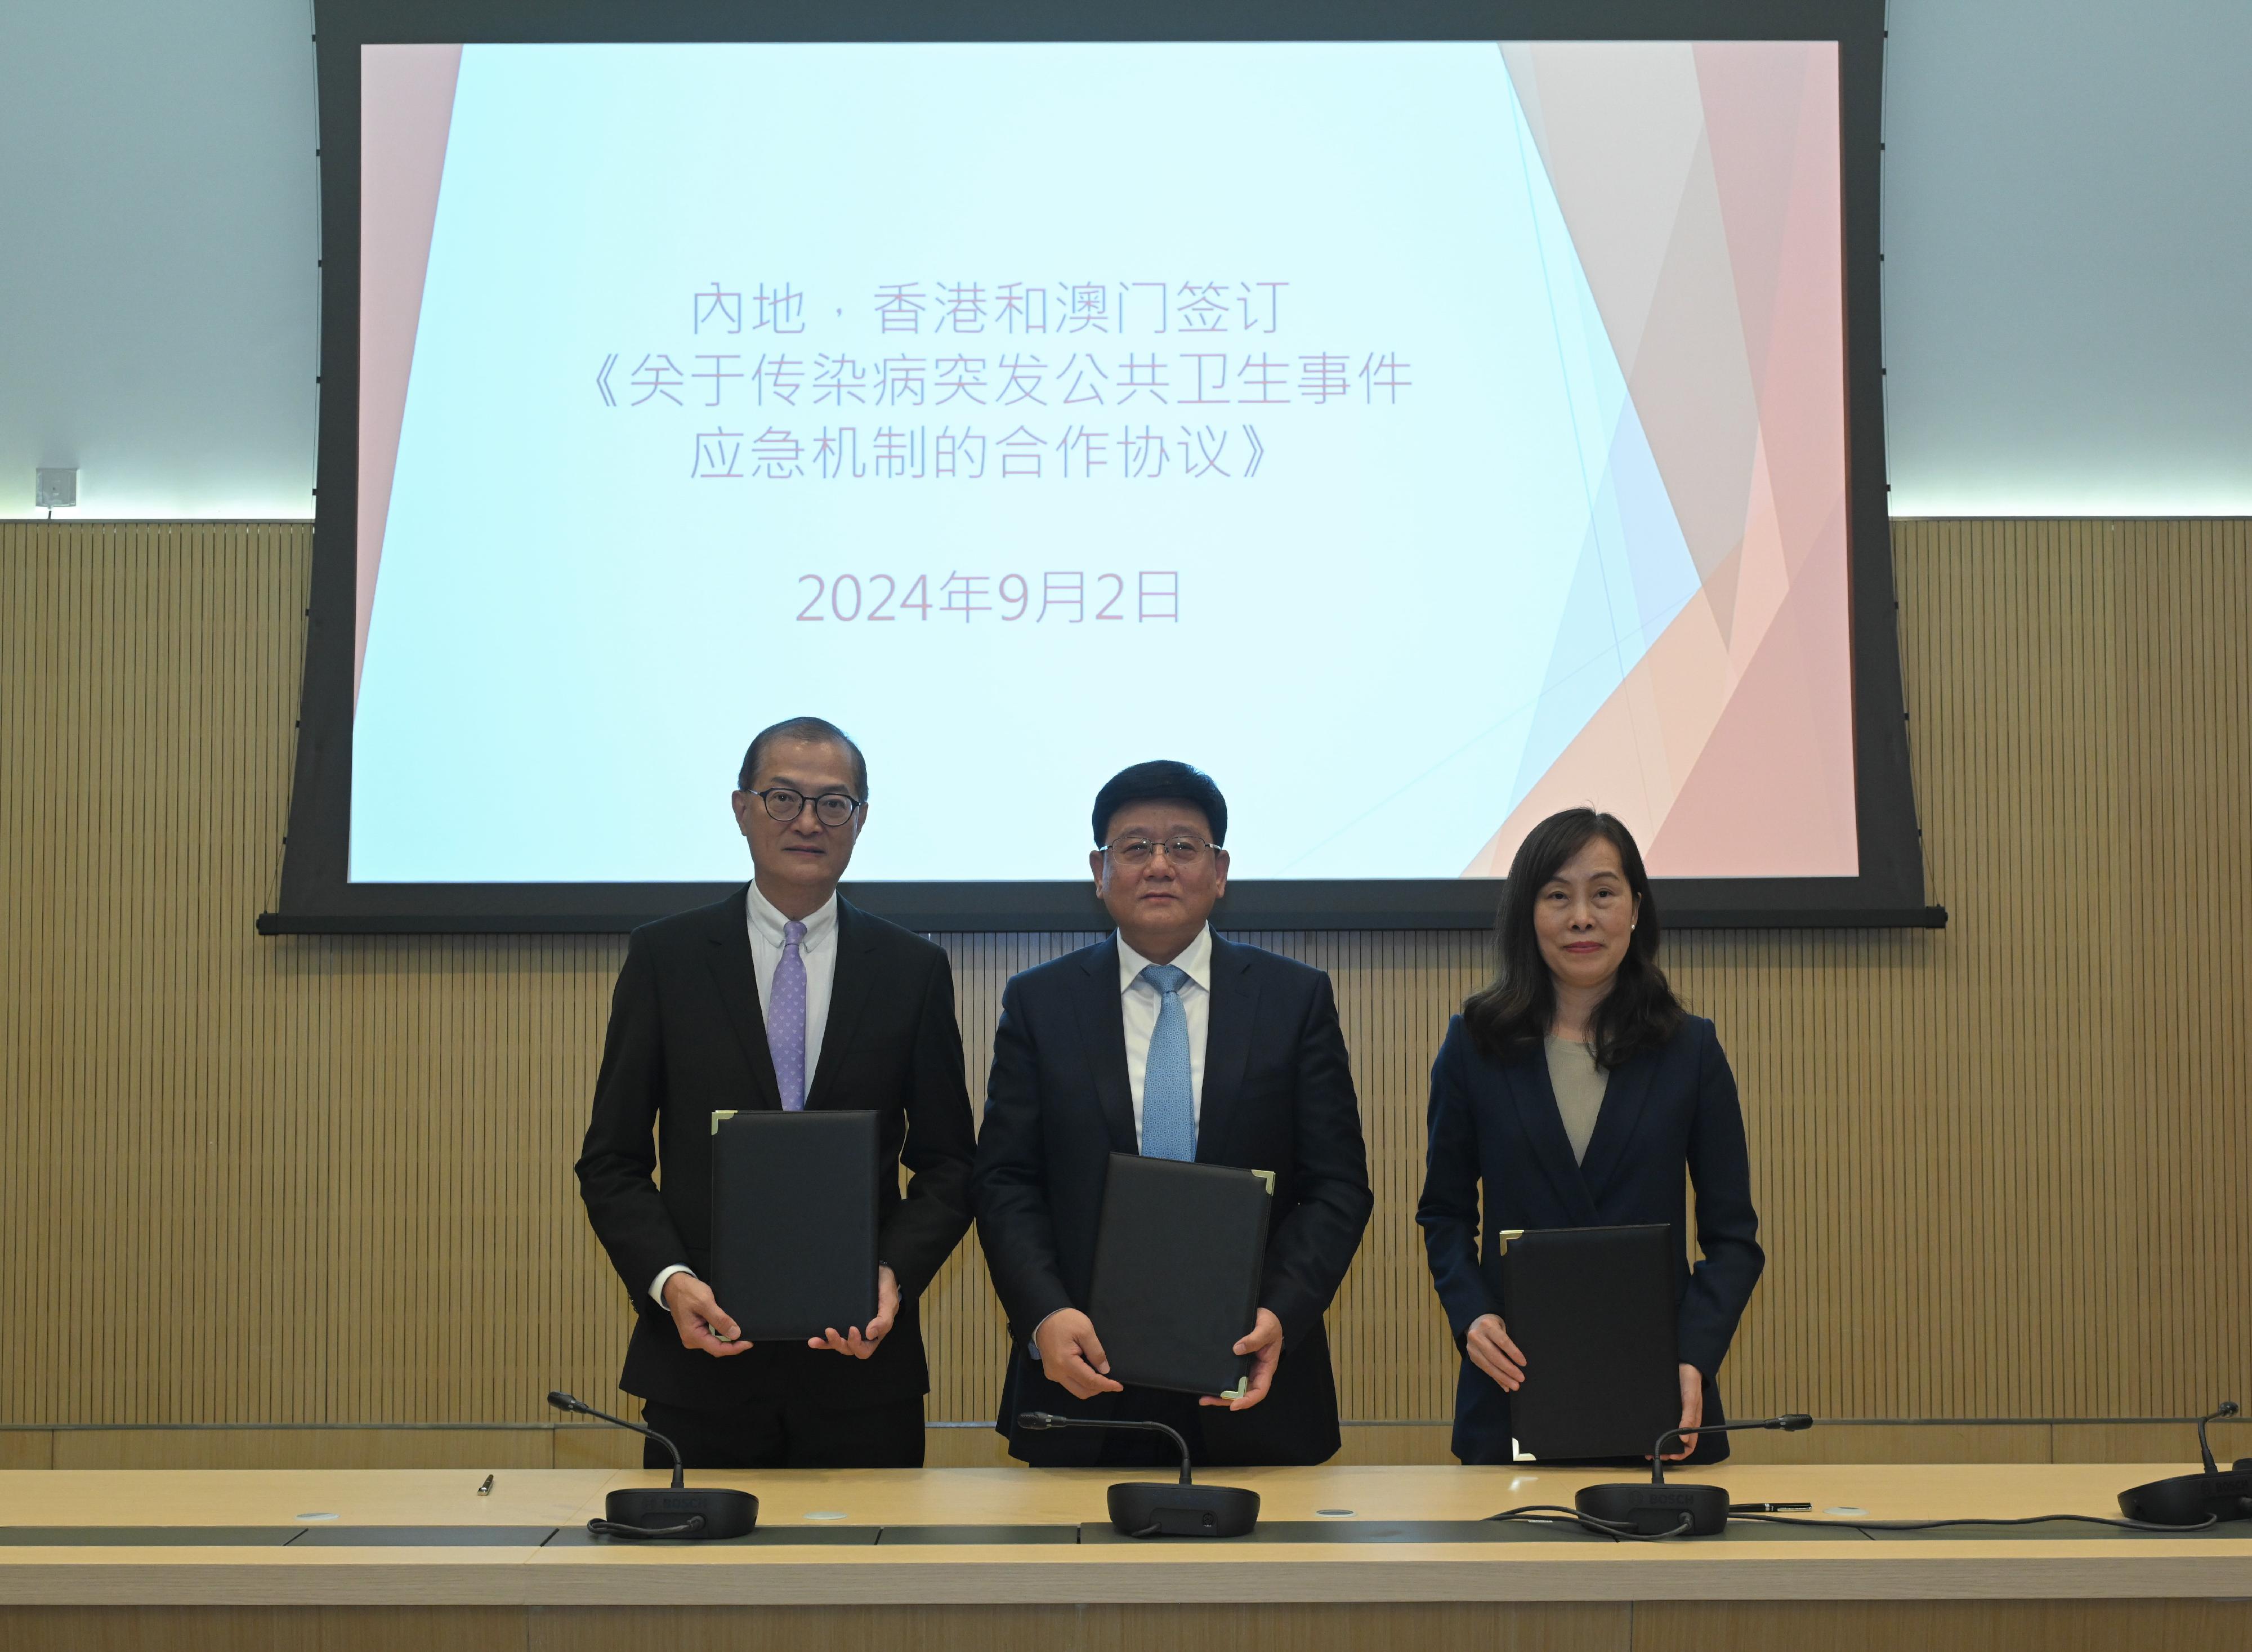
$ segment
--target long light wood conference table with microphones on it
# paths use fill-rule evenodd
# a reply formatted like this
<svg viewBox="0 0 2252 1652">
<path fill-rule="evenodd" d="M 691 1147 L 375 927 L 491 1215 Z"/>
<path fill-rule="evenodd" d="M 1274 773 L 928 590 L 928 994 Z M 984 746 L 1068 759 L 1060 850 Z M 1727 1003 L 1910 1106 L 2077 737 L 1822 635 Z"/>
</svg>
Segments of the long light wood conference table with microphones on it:
<svg viewBox="0 0 2252 1652">
<path fill-rule="evenodd" d="M 1829 1524 L 1675 1542 L 1484 1519 L 1570 1503 L 1615 1470 L 1214 1470 L 1263 1503 L 1227 1542 L 1119 1537 L 1117 1470 L 696 1474 L 754 1492 L 759 1528 L 631 1544 L 586 1521 L 662 1474 L 25 1470 L 0 1474 L 0 1647 L 2252 1647 L 2252 1521 L 1853 1524 L 2117 1515 L 2119 1488 L 2175 1472 L 1723 1465 L 1700 1479 Z"/>
</svg>

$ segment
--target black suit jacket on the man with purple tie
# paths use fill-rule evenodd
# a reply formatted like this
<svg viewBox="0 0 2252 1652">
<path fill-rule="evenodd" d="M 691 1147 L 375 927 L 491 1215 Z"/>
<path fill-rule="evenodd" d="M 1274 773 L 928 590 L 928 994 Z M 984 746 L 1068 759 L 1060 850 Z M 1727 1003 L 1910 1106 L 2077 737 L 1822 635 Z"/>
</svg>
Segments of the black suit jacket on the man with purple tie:
<svg viewBox="0 0 2252 1652">
<path fill-rule="evenodd" d="M 673 1263 L 709 1278 L 712 1112 L 781 1105 L 743 907 L 739 891 L 635 930 L 617 972 L 595 1119 L 579 1155 L 588 1220 L 635 1310 L 617 1386 L 700 1411 L 743 1400 L 860 1407 L 928 1393 L 914 1303 L 971 1224 L 975 1125 L 955 979 L 937 945 L 849 903 L 838 903 L 835 981 L 806 1107 L 883 1114 L 890 1173 L 878 1177 L 878 1256 L 901 1294 L 892 1335 L 867 1359 L 804 1344 L 759 1344 L 721 1359 L 682 1348 L 671 1314 L 649 1296 L 649 1283 Z M 653 1179 L 660 1159 L 662 1186 Z M 901 1164 L 914 1173 L 905 1197 Z"/>
</svg>

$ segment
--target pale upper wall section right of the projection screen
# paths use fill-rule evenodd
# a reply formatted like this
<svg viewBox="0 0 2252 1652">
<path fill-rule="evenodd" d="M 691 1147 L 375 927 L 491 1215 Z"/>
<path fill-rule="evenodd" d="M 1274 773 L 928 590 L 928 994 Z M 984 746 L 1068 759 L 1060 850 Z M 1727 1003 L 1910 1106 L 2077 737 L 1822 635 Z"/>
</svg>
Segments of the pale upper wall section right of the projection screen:
<svg viewBox="0 0 2252 1652">
<path fill-rule="evenodd" d="M 1889 16 L 1894 515 L 2252 515 L 2252 2 Z"/>
</svg>

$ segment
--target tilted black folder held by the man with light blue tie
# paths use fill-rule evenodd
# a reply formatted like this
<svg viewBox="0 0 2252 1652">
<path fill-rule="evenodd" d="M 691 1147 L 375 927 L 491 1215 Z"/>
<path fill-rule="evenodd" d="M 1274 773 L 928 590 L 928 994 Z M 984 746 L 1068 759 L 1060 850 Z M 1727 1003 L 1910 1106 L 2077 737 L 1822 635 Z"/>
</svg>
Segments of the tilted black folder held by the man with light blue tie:
<svg viewBox="0 0 2252 1652">
<path fill-rule="evenodd" d="M 1088 1317 L 1117 1382 L 1241 1393 L 1272 1204 L 1261 1170 L 1110 1155 Z"/>
</svg>

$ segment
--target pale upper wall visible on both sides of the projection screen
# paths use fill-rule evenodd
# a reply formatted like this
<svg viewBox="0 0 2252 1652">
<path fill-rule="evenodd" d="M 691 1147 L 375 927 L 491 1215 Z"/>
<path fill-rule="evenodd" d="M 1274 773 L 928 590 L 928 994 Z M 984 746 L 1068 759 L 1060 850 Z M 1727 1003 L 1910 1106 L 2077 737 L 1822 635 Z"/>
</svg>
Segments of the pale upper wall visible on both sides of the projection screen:
<svg viewBox="0 0 2252 1652">
<path fill-rule="evenodd" d="M 2247 0 L 1894 0 L 1898 515 L 2252 513 Z M 0 5 L 0 515 L 313 509 L 309 0 Z"/>
</svg>

